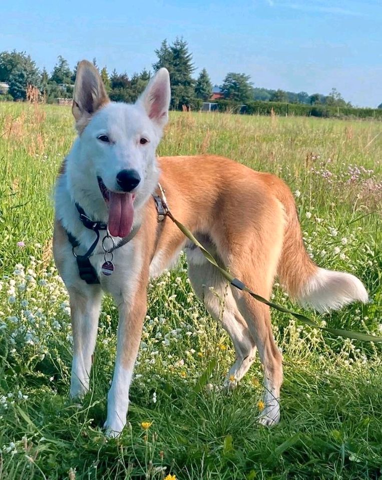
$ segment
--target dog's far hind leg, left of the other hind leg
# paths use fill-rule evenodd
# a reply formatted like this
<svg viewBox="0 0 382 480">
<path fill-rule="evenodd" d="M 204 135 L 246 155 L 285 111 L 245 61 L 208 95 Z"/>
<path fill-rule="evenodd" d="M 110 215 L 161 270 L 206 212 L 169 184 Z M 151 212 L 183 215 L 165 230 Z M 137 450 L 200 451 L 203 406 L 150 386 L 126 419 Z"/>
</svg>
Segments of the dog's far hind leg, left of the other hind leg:
<svg viewBox="0 0 382 480">
<path fill-rule="evenodd" d="M 200 251 L 188 252 L 188 276 L 195 293 L 213 318 L 220 320 L 235 347 L 236 360 L 224 381 L 233 387 L 245 375 L 255 359 L 256 346 L 246 321 L 240 314 L 227 281 Z"/>
</svg>

